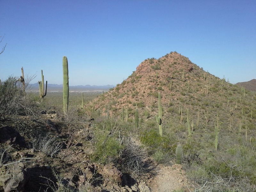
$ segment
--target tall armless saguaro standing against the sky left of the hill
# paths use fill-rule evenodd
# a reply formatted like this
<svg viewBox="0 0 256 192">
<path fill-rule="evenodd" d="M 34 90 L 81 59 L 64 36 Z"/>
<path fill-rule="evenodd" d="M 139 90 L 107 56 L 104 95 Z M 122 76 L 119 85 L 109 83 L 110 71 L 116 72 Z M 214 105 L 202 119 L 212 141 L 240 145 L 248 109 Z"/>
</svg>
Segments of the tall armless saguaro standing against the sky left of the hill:
<svg viewBox="0 0 256 192">
<path fill-rule="evenodd" d="M 63 57 L 62 67 L 63 67 L 63 111 L 64 113 L 67 113 L 69 86 L 68 86 L 68 59 L 66 56 Z"/>
</svg>

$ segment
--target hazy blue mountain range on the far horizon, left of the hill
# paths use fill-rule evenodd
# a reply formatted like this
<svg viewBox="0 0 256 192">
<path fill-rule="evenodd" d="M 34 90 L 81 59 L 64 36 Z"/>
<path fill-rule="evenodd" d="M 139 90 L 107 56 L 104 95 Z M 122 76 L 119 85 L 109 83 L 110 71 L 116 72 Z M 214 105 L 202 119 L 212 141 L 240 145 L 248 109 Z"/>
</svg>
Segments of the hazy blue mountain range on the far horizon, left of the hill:
<svg viewBox="0 0 256 192">
<path fill-rule="evenodd" d="M 45 87 L 45 84 L 44 84 Z M 69 91 L 96 91 L 104 90 L 108 91 L 111 88 L 114 88 L 114 85 L 76 85 L 69 86 Z M 38 83 L 30 84 L 31 91 L 38 91 Z M 47 84 L 47 91 L 62 91 L 63 84 Z"/>
</svg>

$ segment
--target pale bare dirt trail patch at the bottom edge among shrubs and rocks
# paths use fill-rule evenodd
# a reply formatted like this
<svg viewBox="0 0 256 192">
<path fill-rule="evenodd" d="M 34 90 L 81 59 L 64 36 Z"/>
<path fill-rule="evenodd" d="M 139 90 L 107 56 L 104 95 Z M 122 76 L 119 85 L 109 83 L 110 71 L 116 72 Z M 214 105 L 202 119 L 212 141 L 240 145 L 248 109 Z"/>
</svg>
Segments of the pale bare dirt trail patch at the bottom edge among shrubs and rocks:
<svg viewBox="0 0 256 192">
<path fill-rule="evenodd" d="M 152 192 L 171 192 L 178 189 L 187 189 L 188 180 L 180 164 L 172 166 L 157 165 L 156 172 L 149 180 Z"/>
</svg>

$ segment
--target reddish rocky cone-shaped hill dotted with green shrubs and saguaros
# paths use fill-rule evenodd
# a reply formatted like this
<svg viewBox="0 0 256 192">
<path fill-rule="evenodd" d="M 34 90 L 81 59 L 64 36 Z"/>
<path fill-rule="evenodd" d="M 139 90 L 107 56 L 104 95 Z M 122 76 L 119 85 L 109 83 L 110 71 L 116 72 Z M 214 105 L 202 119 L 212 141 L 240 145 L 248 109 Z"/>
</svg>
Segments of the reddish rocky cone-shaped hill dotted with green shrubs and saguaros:
<svg viewBox="0 0 256 192">
<path fill-rule="evenodd" d="M 172 124 L 185 124 L 189 110 L 190 121 L 195 123 L 199 118 L 199 127 L 214 127 L 217 116 L 225 129 L 231 124 L 234 131 L 238 130 L 240 122 L 248 122 L 250 128 L 255 126 L 256 97 L 252 92 L 205 72 L 177 52 L 144 60 L 131 76 L 96 99 L 95 106 L 121 116 L 122 108 L 127 105 L 129 117 L 137 106 L 140 117 L 147 111 L 148 118 L 155 118 L 158 92 L 165 122 L 171 119 Z M 185 114 L 183 121 L 180 121 L 181 108 Z"/>
</svg>

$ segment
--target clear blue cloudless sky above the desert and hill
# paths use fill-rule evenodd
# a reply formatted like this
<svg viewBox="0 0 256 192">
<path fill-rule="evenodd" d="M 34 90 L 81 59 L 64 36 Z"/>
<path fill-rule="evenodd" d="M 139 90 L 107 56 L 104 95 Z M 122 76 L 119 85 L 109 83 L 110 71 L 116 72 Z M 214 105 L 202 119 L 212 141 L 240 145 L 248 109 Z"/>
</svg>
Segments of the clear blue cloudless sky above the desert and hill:
<svg viewBox="0 0 256 192">
<path fill-rule="evenodd" d="M 116 85 L 171 51 L 231 83 L 256 78 L 256 1 L 1 0 L 0 79 L 36 75 L 70 85 Z M 0 51 L 1 51 L 0 49 Z"/>
</svg>

